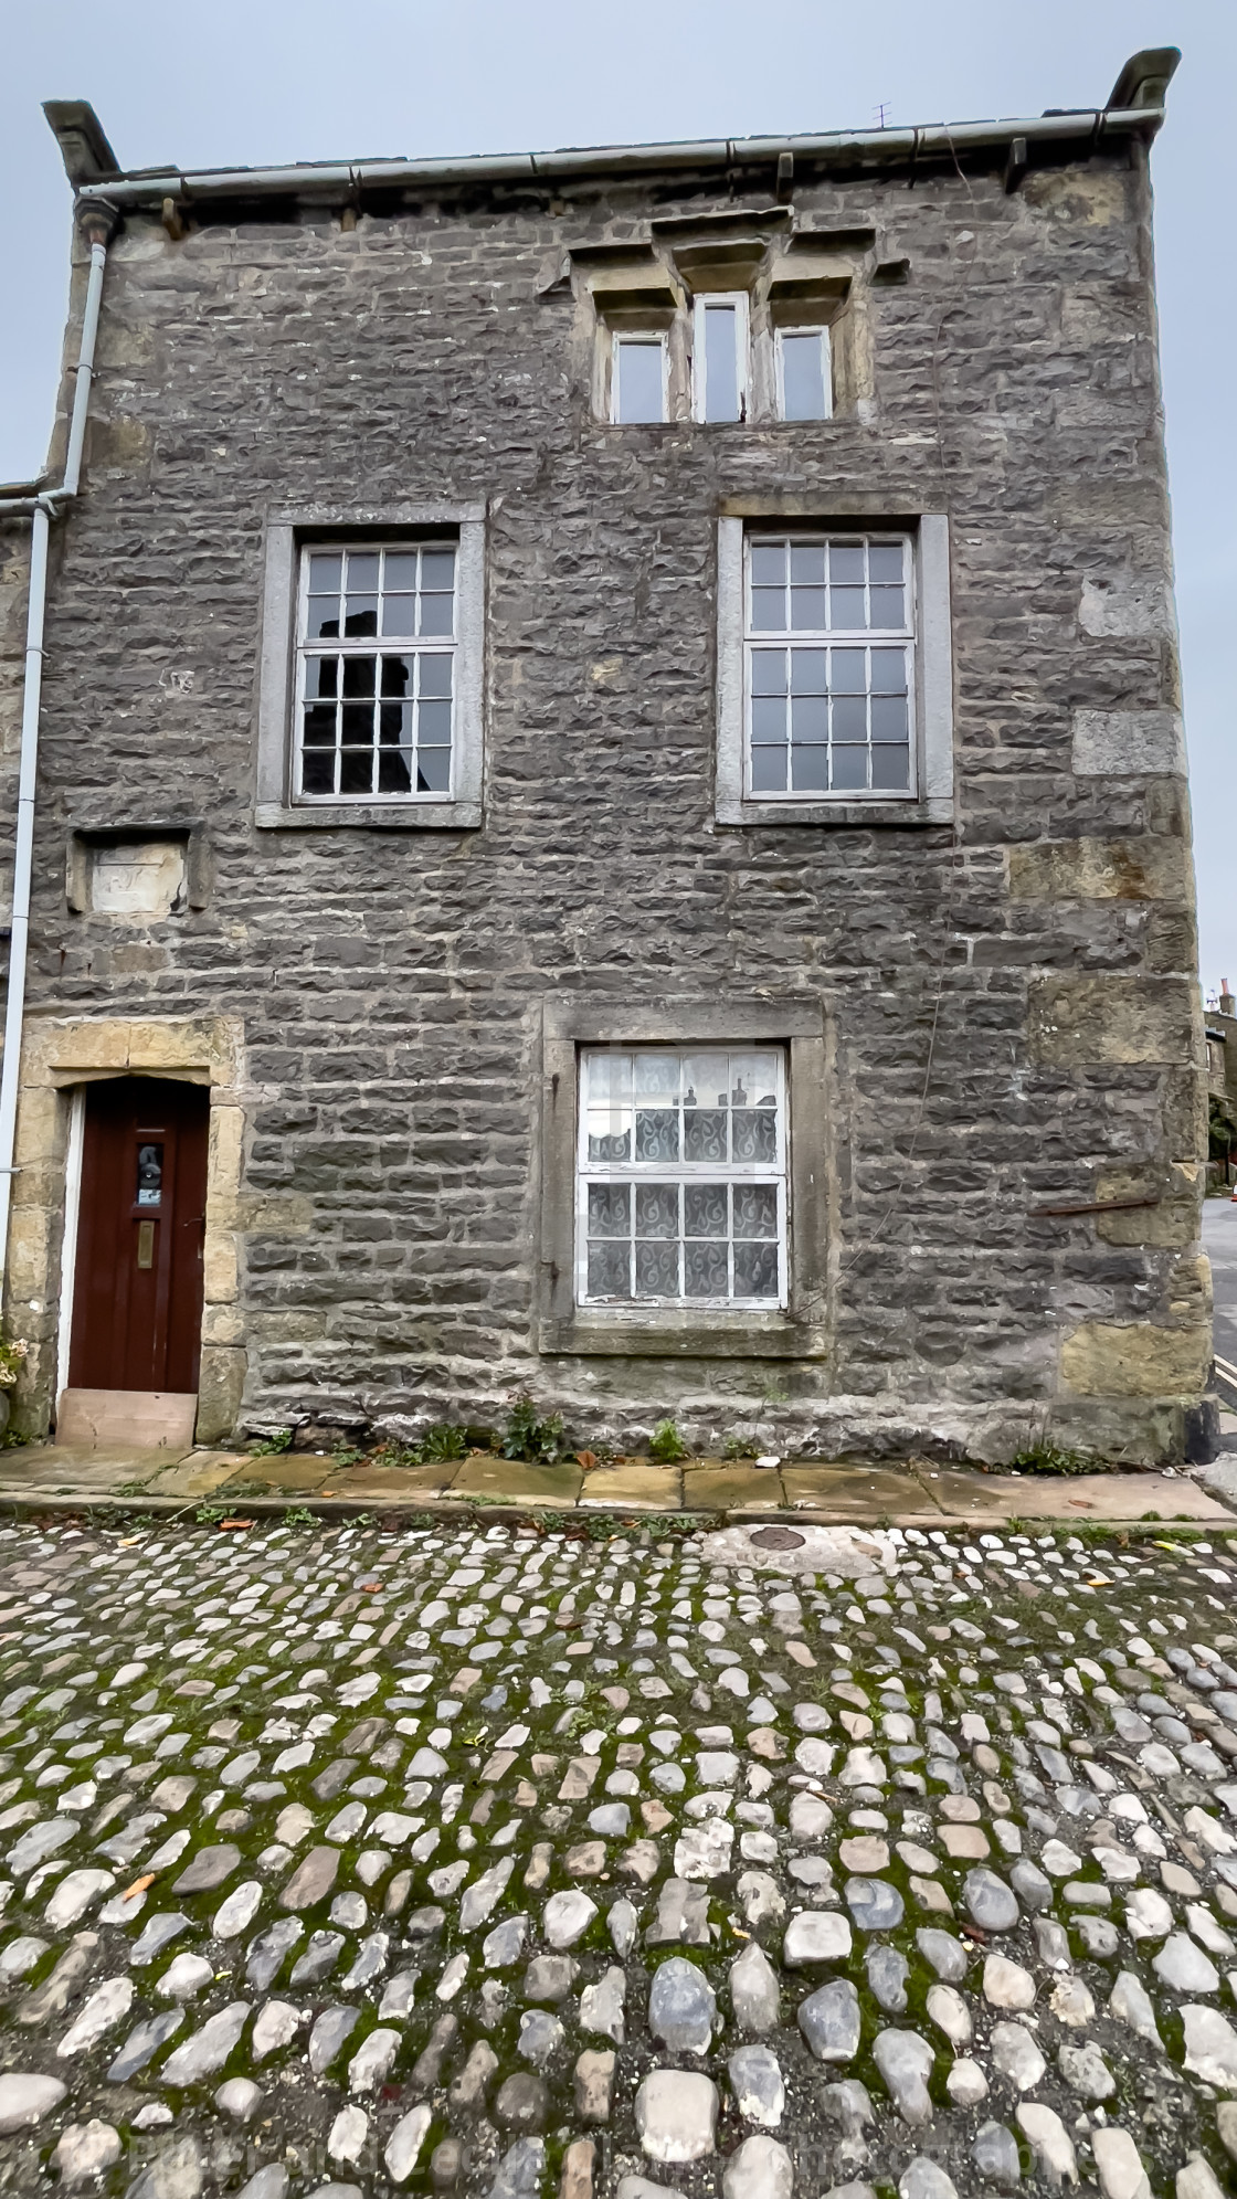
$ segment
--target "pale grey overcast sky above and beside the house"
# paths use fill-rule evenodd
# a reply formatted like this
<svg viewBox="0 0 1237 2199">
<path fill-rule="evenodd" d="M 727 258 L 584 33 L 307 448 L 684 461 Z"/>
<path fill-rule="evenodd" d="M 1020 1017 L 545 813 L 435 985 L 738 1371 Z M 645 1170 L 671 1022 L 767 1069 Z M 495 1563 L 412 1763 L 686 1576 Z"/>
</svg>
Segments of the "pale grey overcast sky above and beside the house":
<svg viewBox="0 0 1237 2199">
<path fill-rule="evenodd" d="M 125 167 L 527 152 L 866 130 L 1101 106 L 1182 46 L 1154 154 L 1202 972 L 1237 983 L 1233 0 L 9 0 L 0 479 L 37 471 L 66 295 L 68 185 L 42 99 L 90 99 Z"/>
</svg>

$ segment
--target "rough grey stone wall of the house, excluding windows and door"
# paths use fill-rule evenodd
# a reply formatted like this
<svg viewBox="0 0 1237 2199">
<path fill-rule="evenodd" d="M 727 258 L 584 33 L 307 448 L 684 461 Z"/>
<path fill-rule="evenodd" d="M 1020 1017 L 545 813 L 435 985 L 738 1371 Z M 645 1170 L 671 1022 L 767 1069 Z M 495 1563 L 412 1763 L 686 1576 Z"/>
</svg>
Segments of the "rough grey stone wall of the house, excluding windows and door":
<svg viewBox="0 0 1237 2199">
<path fill-rule="evenodd" d="M 1160 110 L 1136 64 L 1116 90 L 1147 119 L 1030 145 L 213 189 L 77 163 L 116 233 L 53 537 L 18 1425 L 53 1405 L 64 1062 L 158 1067 L 189 1031 L 204 1438 L 477 1423 L 527 1388 L 628 1449 L 672 1414 L 699 1449 L 1182 1456 L 1211 1326 Z M 79 246 L 75 314 L 81 288 Z M 745 420 L 692 416 L 705 292 L 749 312 Z M 831 418 L 776 418 L 787 314 L 828 328 Z M 666 336 L 661 422 L 606 416 L 624 328 Z M 483 530 L 479 822 L 261 809 L 259 734 L 290 739 L 259 723 L 277 530 L 413 539 L 426 512 Z M 925 515 L 945 794 L 725 820 L 718 521 L 914 548 Z M 24 526 L 0 541 L 13 770 Z M 119 829 L 187 844 L 167 913 L 75 891 Z M 554 1062 L 591 1036 L 791 1049 L 784 1306 L 580 1319 Z"/>
</svg>

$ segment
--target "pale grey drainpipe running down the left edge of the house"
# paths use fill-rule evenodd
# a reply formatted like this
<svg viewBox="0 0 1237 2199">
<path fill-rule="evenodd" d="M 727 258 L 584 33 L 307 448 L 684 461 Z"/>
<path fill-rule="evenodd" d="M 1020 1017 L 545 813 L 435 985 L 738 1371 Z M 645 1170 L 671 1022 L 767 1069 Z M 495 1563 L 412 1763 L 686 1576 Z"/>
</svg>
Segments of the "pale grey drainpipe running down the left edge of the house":
<svg viewBox="0 0 1237 2199">
<path fill-rule="evenodd" d="M 4 1007 L 4 1064 L 0 1069 L 0 1282 L 9 1258 L 9 1212 L 13 1203 L 13 1152 L 18 1139 L 18 1091 L 22 1082 L 22 1023 L 26 1007 L 26 954 L 31 937 L 31 869 L 35 853 L 35 785 L 40 770 L 40 701 L 44 682 L 44 616 L 51 521 L 59 515 L 81 482 L 81 449 L 90 383 L 94 380 L 94 339 L 103 301 L 103 268 L 108 240 L 116 226 L 112 207 L 94 200 L 88 209 L 90 275 L 81 314 L 77 352 L 77 387 L 68 422 L 64 482 L 35 495 L 0 497 L 0 519 L 31 519 L 31 600 L 26 609 L 26 673 L 22 690 L 22 750 L 18 772 L 18 831 L 13 849 L 13 932 L 9 941 L 9 1001 Z"/>
</svg>

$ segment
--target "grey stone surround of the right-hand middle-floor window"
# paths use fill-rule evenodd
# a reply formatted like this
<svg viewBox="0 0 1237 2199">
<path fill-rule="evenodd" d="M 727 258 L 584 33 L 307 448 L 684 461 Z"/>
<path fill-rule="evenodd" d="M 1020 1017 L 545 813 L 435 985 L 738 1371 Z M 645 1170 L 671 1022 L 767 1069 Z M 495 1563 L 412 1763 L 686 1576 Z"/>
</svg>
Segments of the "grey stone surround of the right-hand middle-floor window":
<svg viewBox="0 0 1237 2199">
<path fill-rule="evenodd" d="M 747 778 L 747 534 L 912 534 L 914 541 L 914 794 L 839 789 L 837 794 L 749 794 Z M 949 609 L 949 519 L 899 512 L 888 521 L 868 499 L 861 517 L 795 519 L 778 526 L 749 506 L 718 521 L 716 638 L 716 796 L 718 825 L 949 825 L 954 820 L 954 636 Z M 773 638 L 771 638 L 773 640 Z"/>
</svg>

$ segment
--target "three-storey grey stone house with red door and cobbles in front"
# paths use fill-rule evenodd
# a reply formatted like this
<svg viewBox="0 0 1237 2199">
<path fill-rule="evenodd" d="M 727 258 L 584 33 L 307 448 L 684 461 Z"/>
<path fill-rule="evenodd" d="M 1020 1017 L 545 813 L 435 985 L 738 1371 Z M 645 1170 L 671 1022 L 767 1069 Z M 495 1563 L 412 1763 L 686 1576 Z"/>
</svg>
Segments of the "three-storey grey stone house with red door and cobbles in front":
<svg viewBox="0 0 1237 2199">
<path fill-rule="evenodd" d="M 1197 1445 L 1173 66 L 202 176 L 48 108 L 22 1427 Z"/>
</svg>

